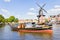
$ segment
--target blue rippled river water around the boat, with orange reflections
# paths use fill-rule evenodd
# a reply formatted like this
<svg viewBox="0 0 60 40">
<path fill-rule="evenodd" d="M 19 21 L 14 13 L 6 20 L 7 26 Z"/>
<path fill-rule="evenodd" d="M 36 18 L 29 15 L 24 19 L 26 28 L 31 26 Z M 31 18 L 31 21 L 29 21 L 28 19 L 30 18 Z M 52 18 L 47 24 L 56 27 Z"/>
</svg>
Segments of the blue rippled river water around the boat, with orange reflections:
<svg viewBox="0 0 60 40">
<path fill-rule="evenodd" d="M 60 40 L 60 25 L 53 26 L 53 33 L 16 32 L 5 25 L 0 28 L 0 40 Z"/>
</svg>

